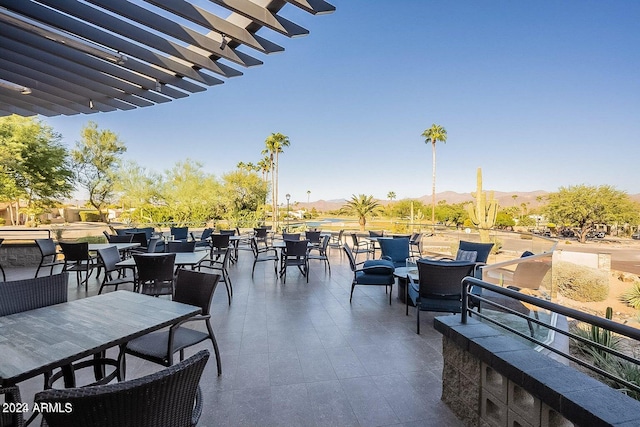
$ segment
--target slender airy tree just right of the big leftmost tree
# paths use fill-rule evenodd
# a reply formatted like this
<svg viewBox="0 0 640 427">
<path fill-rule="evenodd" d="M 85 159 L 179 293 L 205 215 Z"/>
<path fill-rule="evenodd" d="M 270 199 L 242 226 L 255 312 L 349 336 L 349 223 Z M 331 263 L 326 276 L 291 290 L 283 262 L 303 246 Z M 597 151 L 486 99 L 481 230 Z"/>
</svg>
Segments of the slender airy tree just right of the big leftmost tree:
<svg viewBox="0 0 640 427">
<path fill-rule="evenodd" d="M 104 209 L 114 195 L 120 156 L 127 147 L 114 132 L 100 130 L 91 121 L 80 134 L 82 139 L 71 151 L 76 178 L 89 193 L 89 203 L 98 210 L 100 220 L 105 221 Z"/>
</svg>

